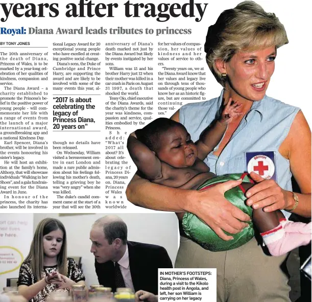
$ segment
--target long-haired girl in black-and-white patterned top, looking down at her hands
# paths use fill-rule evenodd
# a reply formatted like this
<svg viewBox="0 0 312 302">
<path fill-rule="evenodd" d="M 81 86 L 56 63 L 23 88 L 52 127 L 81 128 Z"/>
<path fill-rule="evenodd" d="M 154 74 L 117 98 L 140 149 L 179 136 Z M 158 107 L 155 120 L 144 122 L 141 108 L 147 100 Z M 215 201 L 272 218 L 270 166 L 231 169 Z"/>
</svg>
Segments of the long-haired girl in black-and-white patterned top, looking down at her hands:
<svg viewBox="0 0 312 302">
<path fill-rule="evenodd" d="M 69 291 L 74 284 L 85 284 L 85 277 L 72 258 L 66 256 L 66 230 L 61 221 L 41 220 L 31 248 L 21 264 L 18 291 L 31 302 L 45 301 L 54 290 Z"/>
</svg>

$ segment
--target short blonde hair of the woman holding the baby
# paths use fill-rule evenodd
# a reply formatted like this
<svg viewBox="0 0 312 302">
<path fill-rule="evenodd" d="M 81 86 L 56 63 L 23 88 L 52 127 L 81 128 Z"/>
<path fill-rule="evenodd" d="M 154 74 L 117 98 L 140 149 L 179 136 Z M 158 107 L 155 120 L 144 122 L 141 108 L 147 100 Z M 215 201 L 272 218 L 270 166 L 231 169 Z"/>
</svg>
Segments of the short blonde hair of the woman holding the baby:
<svg viewBox="0 0 312 302">
<path fill-rule="evenodd" d="M 225 10 L 214 25 L 209 26 L 205 42 L 206 61 L 215 79 L 224 86 L 225 79 L 215 61 L 231 60 L 238 51 L 253 51 L 288 43 L 284 26 L 274 13 L 265 12 L 253 1 L 244 1 Z"/>
</svg>

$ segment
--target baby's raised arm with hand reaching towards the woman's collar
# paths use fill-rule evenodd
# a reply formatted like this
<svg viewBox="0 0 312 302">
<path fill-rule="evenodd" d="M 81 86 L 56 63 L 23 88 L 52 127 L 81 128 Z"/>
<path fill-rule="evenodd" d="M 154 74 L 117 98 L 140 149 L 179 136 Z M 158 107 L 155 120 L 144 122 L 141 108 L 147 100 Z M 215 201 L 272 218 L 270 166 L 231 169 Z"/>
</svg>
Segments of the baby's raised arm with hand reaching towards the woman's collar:
<svg viewBox="0 0 312 302">
<path fill-rule="evenodd" d="M 225 108 L 222 111 L 221 118 L 213 121 L 200 135 L 199 140 L 196 142 L 198 148 L 199 159 L 204 159 L 215 146 L 221 141 L 226 128 L 233 118 L 241 115 L 242 104 L 233 101 L 230 98 Z"/>
</svg>

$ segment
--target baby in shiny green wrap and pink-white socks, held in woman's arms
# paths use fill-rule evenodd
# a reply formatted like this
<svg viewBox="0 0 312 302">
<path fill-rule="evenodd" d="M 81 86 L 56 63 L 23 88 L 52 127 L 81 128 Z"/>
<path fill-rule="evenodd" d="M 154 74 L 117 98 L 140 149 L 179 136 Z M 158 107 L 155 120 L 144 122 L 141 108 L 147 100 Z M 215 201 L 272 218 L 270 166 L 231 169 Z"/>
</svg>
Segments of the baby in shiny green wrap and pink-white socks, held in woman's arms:
<svg viewBox="0 0 312 302">
<path fill-rule="evenodd" d="M 281 255 L 308 244 L 311 240 L 311 223 L 287 221 L 280 211 L 252 210 L 245 204 L 245 192 L 252 184 L 247 173 L 216 177 L 209 172 L 204 158 L 221 141 L 227 126 L 242 114 L 241 104 L 231 99 L 221 117 L 209 125 L 196 144 L 185 127 L 170 119 L 159 118 L 128 138 L 128 150 L 140 175 L 167 187 L 206 190 L 214 184 L 229 179 L 242 178 L 243 183 L 225 193 L 225 197 L 242 211 L 252 216 L 263 242 L 272 255 Z M 191 213 L 178 213 L 185 234 L 206 249 L 212 251 L 236 248 L 254 236 L 252 222 L 234 240 L 223 241 L 211 228 Z"/>
</svg>

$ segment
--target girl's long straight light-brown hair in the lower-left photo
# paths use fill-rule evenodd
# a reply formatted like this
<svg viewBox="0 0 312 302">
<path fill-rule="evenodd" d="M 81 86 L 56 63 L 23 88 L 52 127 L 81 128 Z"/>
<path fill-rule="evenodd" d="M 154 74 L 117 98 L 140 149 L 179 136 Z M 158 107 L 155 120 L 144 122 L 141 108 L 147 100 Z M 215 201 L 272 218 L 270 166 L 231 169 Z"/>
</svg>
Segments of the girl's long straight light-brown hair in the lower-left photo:
<svg viewBox="0 0 312 302">
<path fill-rule="evenodd" d="M 43 236 L 49 234 L 54 230 L 60 229 L 63 232 L 62 247 L 57 255 L 57 267 L 58 271 L 62 275 L 67 275 L 67 248 L 66 248 L 66 230 L 62 222 L 54 218 L 42 219 L 36 228 L 33 241 L 30 246 L 29 254 L 25 261 L 31 262 L 31 268 L 37 281 L 40 281 L 43 271 Z"/>
</svg>

